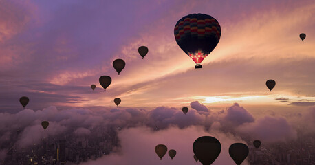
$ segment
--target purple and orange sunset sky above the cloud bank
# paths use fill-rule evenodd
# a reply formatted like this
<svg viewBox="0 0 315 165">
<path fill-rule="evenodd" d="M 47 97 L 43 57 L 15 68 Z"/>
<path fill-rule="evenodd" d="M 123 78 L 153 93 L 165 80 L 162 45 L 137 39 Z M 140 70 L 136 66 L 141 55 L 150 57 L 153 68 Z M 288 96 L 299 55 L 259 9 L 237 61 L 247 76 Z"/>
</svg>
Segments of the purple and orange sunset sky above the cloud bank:
<svg viewBox="0 0 315 165">
<path fill-rule="evenodd" d="M 111 107 L 116 97 L 121 107 L 315 104 L 313 1 L 1 1 L 0 8 L 1 111 L 21 109 L 21 96 L 32 109 Z M 173 28 L 199 12 L 222 32 L 195 69 Z M 144 60 L 141 45 L 149 47 Z M 116 58 L 127 63 L 120 76 Z M 113 80 L 107 91 L 102 75 Z M 272 92 L 268 79 L 276 80 Z"/>
</svg>

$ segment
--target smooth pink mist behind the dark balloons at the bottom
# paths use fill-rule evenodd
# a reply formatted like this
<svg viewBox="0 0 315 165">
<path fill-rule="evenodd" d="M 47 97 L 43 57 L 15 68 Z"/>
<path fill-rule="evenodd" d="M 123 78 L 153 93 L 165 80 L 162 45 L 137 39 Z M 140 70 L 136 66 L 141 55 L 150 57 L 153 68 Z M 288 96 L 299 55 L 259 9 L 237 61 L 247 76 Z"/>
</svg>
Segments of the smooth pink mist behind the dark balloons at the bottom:
<svg viewBox="0 0 315 165">
<path fill-rule="evenodd" d="M 213 165 L 234 164 L 228 154 L 228 147 L 234 142 L 243 142 L 237 137 L 224 133 L 208 133 L 202 127 L 190 126 L 185 129 L 170 127 L 162 131 L 151 131 L 147 127 L 123 129 L 118 137 L 121 141 L 121 148 L 110 155 L 105 155 L 95 161 L 83 163 L 83 165 L 104 164 L 195 164 L 193 159 L 193 142 L 197 137 L 211 135 L 221 142 L 221 154 Z M 162 160 L 155 154 L 154 148 L 158 144 L 164 144 L 168 149 L 175 149 L 176 156 L 171 160 L 169 155 L 164 155 Z M 244 162 L 243 164 L 248 164 Z"/>
</svg>

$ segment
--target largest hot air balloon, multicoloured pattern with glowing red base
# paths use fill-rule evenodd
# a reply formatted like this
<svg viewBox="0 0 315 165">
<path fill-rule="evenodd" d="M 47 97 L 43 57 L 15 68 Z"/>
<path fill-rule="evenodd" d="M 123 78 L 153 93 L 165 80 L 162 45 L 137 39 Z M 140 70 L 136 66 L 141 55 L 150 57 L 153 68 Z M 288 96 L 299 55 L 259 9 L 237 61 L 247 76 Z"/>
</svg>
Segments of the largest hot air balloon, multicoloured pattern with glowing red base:
<svg viewBox="0 0 315 165">
<path fill-rule="evenodd" d="M 207 14 L 189 14 L 177 21 L 174 35 L 180 48 L 202 68 L 202 61 L 212 52 L 221 36 L 219 22 Z"/>
</svg>

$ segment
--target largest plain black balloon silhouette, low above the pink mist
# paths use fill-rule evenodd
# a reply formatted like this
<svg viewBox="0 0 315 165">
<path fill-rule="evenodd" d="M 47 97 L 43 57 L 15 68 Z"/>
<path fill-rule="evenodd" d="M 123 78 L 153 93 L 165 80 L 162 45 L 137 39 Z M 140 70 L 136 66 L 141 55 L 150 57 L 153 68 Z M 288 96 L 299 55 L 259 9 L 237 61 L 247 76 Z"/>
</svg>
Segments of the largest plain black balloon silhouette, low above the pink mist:
<svg viewBox="0 0 315 165">
<path fill-rule="evenodd" d="M 221 144 L 215 137 L 202 136 L 193 143 L 193 153 L 195 153 L 199 162 L 210 165 L 220 155 Z"/>
</svg>

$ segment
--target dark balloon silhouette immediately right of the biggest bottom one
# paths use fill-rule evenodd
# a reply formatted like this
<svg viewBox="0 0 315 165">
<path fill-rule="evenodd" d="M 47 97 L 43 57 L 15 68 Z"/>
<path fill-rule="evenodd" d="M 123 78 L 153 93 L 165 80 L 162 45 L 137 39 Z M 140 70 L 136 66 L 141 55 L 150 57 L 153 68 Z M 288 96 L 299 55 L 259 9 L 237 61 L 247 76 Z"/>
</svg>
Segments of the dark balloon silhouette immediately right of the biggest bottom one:
<svg viewBox="0 0 315 165">
<path fill-rule="evenodd" d="M 230 157 L 232 157 L 234 162 L 240 165 L 248 156 L 249 150 L 246 144 L 235 143 L 228 148 L 228 153 L 230 153 Z"/>
</svg>

